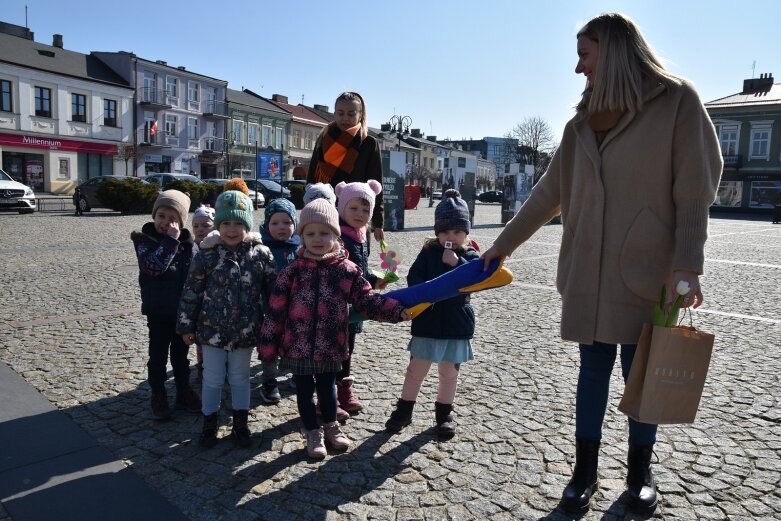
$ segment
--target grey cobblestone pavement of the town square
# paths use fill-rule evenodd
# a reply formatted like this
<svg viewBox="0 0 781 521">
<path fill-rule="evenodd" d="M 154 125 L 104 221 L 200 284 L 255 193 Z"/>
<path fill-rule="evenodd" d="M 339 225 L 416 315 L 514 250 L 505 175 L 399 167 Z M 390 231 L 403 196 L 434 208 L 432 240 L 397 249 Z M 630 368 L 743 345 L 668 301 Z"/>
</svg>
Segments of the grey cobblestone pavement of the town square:
<svg viewBox="0 0 781 521">
<path fill-rule="evenodd" d="M 431 234 L 433 209 L 406 219 L 405 232 L 388 233 L 402 275 Z M 656 518 L 781 519 L 781 226 L 757 219 L 711 220 L 706 302 L 694 319 L 716 334 L 716 346 L 697 421 L 659 431 Z M 476 360 L 462 367 L 453 440 L 432 436 L 434 371 L 413 424 L 384 432 L 409 326 L 369 323 L 353 369 L 366 410 L 345 428 L 355 445 L 312 462 L 287 380 L 277 406 L 261 405 L 253 390 L 251 450 L 228 440 L 202 450 L 195 415 L 151 419 L 129 239 L 147 220 L 0 215 L 0 359 L 190 518 L 567 519 L 555 507 L 573 462 L 577 349 L 558 336 L 561 225 L 545 226 L 509 260 L 512 285 L 474 297 Z M 472 235 L 487 248 L 501 230 L 498 206 L 478 205 L 476 223 Z M 600 492 L 584 519 L 632 518 L 622 499 L 626 421 L 615 408 L 622 385 L 614 373 Z"/>
</svg>

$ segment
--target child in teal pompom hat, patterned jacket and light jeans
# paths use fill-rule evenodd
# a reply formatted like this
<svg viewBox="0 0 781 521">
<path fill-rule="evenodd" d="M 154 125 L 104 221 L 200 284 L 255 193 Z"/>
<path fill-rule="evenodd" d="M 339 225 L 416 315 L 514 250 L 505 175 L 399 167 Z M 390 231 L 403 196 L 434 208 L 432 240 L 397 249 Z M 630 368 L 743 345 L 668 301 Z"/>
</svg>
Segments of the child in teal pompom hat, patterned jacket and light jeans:
<svg viewBox="0 0 781 521">
<path fill-rule="evenodd" d="M 252 201 L 229 190 L 217 198 L 215 231 L 201 242 L 179 304 L 177 332 L 203 347 L 203 429 L 198 443 L 213 447 L 225 377 L 231 387 L 231 437 L 252 443 L 248 426 L 250 360 L 260 341 L 266 302 L 276 278 L 274 259 L 253 228 Z"/>
</svg>

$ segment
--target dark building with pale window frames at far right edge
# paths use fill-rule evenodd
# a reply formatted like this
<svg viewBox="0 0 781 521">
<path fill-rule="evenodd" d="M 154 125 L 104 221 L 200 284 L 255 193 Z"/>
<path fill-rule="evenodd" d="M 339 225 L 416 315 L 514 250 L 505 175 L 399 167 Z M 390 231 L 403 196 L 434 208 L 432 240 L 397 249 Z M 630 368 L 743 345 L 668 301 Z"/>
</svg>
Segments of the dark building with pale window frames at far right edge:
<svg viewBox="0 0 781 521">
<path fill-rule="evenodd" d="M 769 211 L 781 205 L 781 84 L 762 74 L 705 108 L 724 158 L 714 207 Z"/>
</svg>

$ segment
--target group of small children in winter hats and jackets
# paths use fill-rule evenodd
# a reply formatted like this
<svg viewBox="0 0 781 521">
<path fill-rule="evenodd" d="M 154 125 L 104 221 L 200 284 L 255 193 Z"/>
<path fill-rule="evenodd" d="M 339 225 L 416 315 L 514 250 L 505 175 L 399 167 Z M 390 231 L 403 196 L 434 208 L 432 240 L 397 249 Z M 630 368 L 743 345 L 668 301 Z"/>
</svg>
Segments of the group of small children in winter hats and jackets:
<svg viewBox="0 0 781 521">
<path fill-rule="evenodd" d="M 139 263 L 142 312 L 149 328 L 148 379 L 155 417 L 171 415 L 165 391 L 170 353 L 177 408 L 201 412 L 200 445 L 217 443 L 222 387 L 231 388 L 231 437 L 251 444 L 248 427 L 253 349 L 262 361 L 260 396 L 278 403 L 278 372 L 292 373 L 307 453 L 326 456 L 351 440 L 340 420 L 362 409 L 355 395 L 351 360 L 360 323 L 349 323 L 349 306 L 369 319 L 400 322 L 411 317 L 398 301 L 375 290 L 387 284 L 368 269 L 367 231 L 381 185 L 339 183 L 307 187 L 306 206 L 285 199 L 265 208 L 261 233 L 252 232 L 253 206 L 246 187 L 223 192 L 213 209 L 193 215 L 184 228 L 189 197 L 161 192 L 152 222 L 131 235 Z M 435 212 L 435 238 L 411 265 L 410 285 L 431 280 L 478 256 L 468 240 L 469 211 L 455 190 Z M 437 303 L 412 321 L 401 399 L 386 423 L 398 432 L 412 421 L 417 394 L 432 362 L 439 366 L 436 432 L 455 432 L 452 407 L 458 369 L 472 359 L 474 313 L 468 296 Z M 201 397 L 189 385 L 188 348 L 202 364 Z M 317 405 L 313 400 L 317 395 Z"/>
</svg>

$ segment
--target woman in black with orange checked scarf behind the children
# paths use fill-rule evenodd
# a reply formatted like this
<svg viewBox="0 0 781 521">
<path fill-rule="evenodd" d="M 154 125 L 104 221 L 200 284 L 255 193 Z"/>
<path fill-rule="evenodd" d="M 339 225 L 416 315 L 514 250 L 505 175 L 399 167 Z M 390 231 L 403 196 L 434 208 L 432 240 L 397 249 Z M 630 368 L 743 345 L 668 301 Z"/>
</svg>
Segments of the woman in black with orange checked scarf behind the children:
<svg viewBox="0 0 781 521">
<path fill-rule="evenodd" d="M 341 182 L 365 183 L 369 179 L 382 183 L 380 145 L 369 135 L 363 97 L 357 92 L 343 92 L 336 98 L 334 114 L 336 120 L 323 129 L 315 143 L 307 183 L 328 183 L 334 188 Z M 371 216 L 378 241 L 385 236 L 383 212 L 380 192 Z"/>
</svg>

